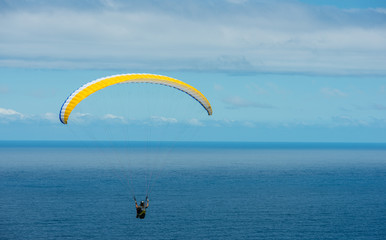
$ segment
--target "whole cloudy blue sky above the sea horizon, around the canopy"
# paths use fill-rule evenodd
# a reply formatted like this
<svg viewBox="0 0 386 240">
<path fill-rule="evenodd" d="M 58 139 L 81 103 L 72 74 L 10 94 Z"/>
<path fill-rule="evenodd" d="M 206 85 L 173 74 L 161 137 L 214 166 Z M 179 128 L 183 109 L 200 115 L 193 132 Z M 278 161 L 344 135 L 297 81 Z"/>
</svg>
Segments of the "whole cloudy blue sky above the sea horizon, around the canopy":
<svg viewBox="0 0 386 240">
<path fill-rule="evenodd" d="M 114 74 L 182 80 L 104 89 Z M 106 130 L 107 129 L 107 130 Z M 0 0 L 0 140 L 386 142 L 386 1 Z"/>
</svg>

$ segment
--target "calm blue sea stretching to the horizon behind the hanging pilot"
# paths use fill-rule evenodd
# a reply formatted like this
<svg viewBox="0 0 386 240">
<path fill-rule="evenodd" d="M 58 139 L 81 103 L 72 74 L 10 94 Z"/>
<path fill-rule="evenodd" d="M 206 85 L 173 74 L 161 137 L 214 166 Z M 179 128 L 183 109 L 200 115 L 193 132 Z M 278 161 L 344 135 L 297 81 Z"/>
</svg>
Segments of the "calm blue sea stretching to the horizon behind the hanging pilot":
<svg viewBox="0 0 386 240">
<path fill-rule="evenodd" d="M 386 146 L 2 142 L 0 239 L 386 239 Z"/>
</svg>

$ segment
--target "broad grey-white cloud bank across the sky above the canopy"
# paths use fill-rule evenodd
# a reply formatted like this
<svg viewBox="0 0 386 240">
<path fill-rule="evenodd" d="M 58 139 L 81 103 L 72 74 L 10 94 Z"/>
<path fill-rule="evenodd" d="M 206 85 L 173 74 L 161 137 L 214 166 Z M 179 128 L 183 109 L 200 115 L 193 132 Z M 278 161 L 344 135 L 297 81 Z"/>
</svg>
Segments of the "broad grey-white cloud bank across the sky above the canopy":
<svg viewBox="0 0 386 240">
<path fill-rule="evenodd" d="M 0 66 L 386 74 L 386 11 L 297 1 L 2 1 Z"/>
</svg>

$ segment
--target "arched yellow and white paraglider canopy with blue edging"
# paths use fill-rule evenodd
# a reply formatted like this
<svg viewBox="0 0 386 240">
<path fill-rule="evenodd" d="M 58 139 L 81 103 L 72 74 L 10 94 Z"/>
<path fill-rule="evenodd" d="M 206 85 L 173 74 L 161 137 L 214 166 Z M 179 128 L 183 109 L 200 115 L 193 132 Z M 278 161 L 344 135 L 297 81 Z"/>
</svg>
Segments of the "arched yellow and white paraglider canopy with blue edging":
<svg viewBox="0 0 386 240">
<path fill-rule="evenodd" d="M 59 113 L 60 121 L 63 124 L 67 124 L 67 120 L 72 110 L 74 110 L 76 105 L 78 105 L 83 99 L 87 98 L 89 95 L 93 94 L 96 91 L 118 83 L 153 83 L 173 87 L 182 92 L 185 92 L 186 94 L 190 95 L 192 98 L 197 100 L 208 112 L 208 115 L 212 115 L 212 107 L 210 106 L 209 101 L 201 92 L 199 92 L 197 89 L 190 86 L 189 84 L 166 76 L 134 73 L 100 78 L 92 82 L 86 83 L 82 87 L 78 88 L 63 103 Z"/>
</svg>

